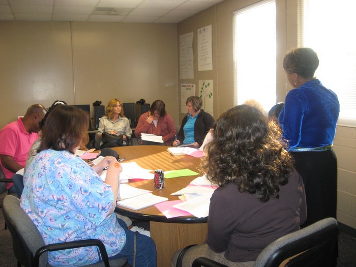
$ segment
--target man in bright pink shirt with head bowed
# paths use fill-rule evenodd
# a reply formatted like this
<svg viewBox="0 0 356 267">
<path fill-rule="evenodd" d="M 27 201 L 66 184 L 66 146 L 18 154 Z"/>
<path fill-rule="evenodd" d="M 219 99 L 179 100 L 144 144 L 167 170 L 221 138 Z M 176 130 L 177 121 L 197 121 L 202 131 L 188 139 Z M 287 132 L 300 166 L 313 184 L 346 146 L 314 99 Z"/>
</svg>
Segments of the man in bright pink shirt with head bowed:
<svg viewBox="0 0 356 267">
<path fill-rule="evenodd" d="M 28 151 L 38 138 L 39 124 L 45 114 L 44 106 L 32 105 L 22 118 L 9 123 L 0 131 L 0 165 L 6 179 L 11 179 L 15 172 L 24 167 Z M 9 192 L 14 192 L 12 186 L 12 183 L 6 183 Z"/>
</svg>

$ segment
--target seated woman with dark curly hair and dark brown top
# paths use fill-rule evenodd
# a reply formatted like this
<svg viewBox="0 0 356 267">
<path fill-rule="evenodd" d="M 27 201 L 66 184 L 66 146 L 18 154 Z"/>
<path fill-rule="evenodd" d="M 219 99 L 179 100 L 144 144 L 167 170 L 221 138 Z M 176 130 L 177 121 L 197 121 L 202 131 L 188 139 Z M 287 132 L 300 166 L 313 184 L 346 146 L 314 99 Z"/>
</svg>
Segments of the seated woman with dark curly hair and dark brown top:
<svg viewBox="0 0 356 267">
<path fill-rule="evenodd" d="M 254 107 L 240 105 L 221 115 L 201 166 L 219 185 L 210 202 L 206 243 L 190 248 L 182 266 L 201 256 L 253 266 L 268 244 L 300 228 L 307 215 L 303 180 L 281 140 L 278 126 Z"/>
</svg>

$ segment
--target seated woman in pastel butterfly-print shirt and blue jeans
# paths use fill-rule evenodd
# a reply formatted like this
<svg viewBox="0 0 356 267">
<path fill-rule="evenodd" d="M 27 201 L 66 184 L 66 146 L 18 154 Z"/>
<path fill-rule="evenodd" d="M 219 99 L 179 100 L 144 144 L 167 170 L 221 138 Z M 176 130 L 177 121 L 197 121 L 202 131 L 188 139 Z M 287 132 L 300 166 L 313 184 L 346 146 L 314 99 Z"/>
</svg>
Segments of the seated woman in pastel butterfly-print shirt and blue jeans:
<svg viewBox="0 0 356 267">
<path fill-rule="evenodd" d="M 38 228 L 45 244 L 99 239 L 109 258 L 127 257 L 133 264 L 134 232 L 113 213 L 122 172 L 114 157 L 90 167 L 73 154 L 87 141 L 88 115 L 60 105 L 48 115 L 38 154 L 24 175 L 21 207 Z M 108 167 L 105 183 L 99 175 Z M 155 266 L 151 238 L 137 234 L 136 266 Z M 97 248 L 48 253 L 52 266 L 81 266 L 98 262 Z"/>
</svg>

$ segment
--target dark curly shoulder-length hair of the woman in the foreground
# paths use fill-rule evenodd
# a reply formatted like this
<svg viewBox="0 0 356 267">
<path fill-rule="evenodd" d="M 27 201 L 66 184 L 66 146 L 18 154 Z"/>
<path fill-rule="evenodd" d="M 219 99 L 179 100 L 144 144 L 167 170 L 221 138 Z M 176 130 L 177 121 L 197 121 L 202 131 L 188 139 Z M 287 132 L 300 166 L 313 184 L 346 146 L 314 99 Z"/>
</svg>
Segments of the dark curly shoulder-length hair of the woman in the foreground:
<svg viewBox="0 0 356 267">
<path fill-rule="evenodd" d="M 214 138 L 204 149 L 201 170 L 219 186 L 238 185 L 261 202 L 279 198 L 293 161 L 278 126 L 248 105 L 233 107 L 217 120 Z"/>
</svg>

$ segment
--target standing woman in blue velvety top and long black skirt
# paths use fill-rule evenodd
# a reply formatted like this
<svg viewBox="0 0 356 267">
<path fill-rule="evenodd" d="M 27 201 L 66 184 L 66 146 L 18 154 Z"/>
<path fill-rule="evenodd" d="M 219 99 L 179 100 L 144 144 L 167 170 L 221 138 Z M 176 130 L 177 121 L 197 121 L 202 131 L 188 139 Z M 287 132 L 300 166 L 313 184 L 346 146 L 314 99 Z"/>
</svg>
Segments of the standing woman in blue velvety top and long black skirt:
<svg viewBox="0 0 356 267">
<path fill-rule="evenodd" d="M 336 94 L 314 77 L 318 66 L 311 48 L 296 48 L 283 60 L 295 89 L 285 98 L 279 124 L 304 181 L 308 216 L 303 227 L 336 218 L 337 161 L 332 144 L 340 105 Z"/>
</svg>

